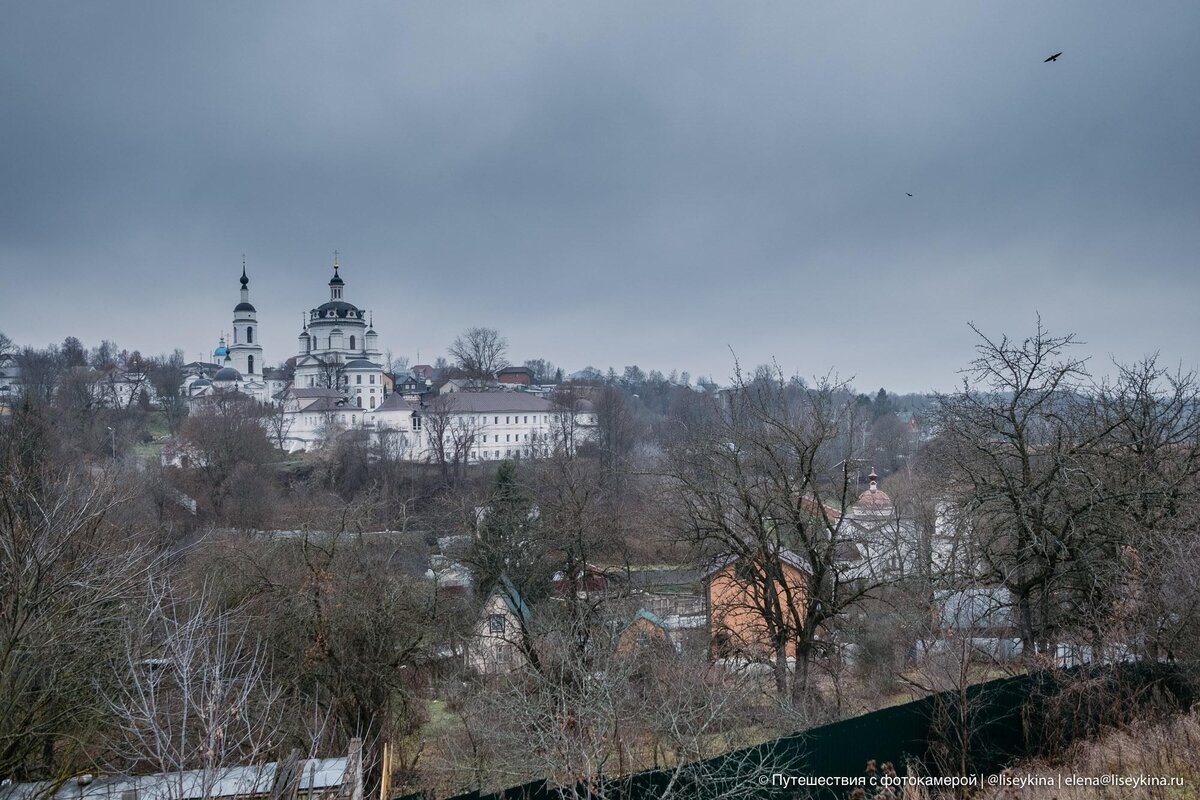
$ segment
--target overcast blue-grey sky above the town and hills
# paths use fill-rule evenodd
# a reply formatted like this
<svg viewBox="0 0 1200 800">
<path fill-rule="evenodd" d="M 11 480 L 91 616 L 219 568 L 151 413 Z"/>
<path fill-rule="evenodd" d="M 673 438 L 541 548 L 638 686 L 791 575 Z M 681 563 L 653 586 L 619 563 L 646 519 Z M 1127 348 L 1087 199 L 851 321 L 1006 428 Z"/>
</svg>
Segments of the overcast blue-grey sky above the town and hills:
<svg viewBox="0 0 1200 800">
<path fill-rule="evenodd" d="M 6 2 L 0 331 L 196 356 L 245 253 L 274 363 L 336 248 L 414 361 L 488 325 L 916 391 L 1040 311 L 1194 365 L 1198 35 L 1192 0 Z"/>
</svg>

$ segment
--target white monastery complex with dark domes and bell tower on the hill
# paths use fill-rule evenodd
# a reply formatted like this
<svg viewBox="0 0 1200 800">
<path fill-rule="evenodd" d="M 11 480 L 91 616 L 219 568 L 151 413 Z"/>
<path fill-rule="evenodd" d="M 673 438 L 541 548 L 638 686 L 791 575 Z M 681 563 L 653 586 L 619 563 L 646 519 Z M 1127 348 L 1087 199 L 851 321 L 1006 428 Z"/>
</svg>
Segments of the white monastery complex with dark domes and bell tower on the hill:
<svg viewBox="0 0 1200 800">
<path fill-rule="evenodd" d="M 563 408 L 521 391 L 455 392 L 432 399 L 394 392 L 373 320 L 347 301 L 340 270 L 335 255 L 329 300 L 304 314 L 288 381 L 282 371 L 264 367 L 244 263 L 232 342 L 221 341 L 214 362 L 190 365 L 197 373 L 185 383 L 187 397 L 203 402 L 216 392 L 236 391 L 276 405 L 289 452 L 365 431 L 400 458 L 479 462 L 536 457 L 551 443 L 574 449 L 594 435 L 596 416 L 588 401 Z"/>
</svg>

